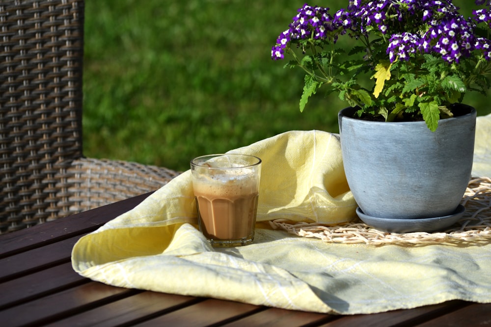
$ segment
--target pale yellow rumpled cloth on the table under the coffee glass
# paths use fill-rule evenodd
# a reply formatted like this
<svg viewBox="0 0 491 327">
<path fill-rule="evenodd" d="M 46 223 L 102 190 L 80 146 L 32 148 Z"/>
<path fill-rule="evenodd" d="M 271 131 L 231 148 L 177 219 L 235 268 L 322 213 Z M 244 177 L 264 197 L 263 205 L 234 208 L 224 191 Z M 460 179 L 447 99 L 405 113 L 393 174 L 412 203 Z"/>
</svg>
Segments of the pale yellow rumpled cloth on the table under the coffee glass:
<svg viewBox="0 0 491 327">
<path fill-rule="evenodd" d="M 263 170 L 252 244 L 213 249 L 196 229 L 190 172 L 82 237 L 76 272 L 115 286 L 304 311 L 357 314 L 463 299 L 491 301 L 491 245 L 330 244 L 272 230 L 278 218 L 354 217 L 337 135 L 294 131 L 233 152 Z"/>
</svg>

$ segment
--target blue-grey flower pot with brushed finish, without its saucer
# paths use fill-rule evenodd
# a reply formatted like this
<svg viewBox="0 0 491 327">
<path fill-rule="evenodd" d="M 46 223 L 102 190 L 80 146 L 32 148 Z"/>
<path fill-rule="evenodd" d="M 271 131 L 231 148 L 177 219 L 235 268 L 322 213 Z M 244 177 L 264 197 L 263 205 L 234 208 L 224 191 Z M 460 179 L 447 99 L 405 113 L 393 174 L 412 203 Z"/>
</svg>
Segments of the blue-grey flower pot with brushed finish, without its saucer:
<svg viewBox="0 0 491 327">
<path fill-rule="evenodd" d="M 372 122 L 339 112 L 341 149 L 348 184 L 366 215 L 390 219 L 454 213 L 472 171 L 476 110 L 425 122 Z"/>
</svg>

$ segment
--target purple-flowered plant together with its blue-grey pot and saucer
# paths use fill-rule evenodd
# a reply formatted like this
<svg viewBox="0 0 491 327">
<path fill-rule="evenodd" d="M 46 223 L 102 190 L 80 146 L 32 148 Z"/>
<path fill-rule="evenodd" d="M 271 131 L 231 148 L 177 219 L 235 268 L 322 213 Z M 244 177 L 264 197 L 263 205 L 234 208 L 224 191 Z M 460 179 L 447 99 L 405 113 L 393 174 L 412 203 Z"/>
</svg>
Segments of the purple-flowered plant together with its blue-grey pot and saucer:
<svg viewBox="0 0 491 327">
<path fill-rule="evenodd" d="M 469 18 L 451 0 L 347 3 L 333 15 L 305 4 L 272 58 L 290 55 L 285 67 L 305 71 L 300 111 L 321 90 L 350 105 L 339 113 L 341 147 L 362 220 L 448 226 L 472 170 L 476 111 L 462 101 L 491 85 L 490 1 L 475 1 L 485 7 Z"/>
</svg>

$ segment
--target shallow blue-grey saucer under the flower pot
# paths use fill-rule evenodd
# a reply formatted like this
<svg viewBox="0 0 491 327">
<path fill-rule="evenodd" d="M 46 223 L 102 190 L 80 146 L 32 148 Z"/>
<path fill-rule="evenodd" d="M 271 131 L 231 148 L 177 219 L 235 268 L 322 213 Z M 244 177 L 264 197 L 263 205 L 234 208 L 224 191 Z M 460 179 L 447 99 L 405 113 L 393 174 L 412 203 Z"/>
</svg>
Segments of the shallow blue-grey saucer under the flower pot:
<svg viewBox="0 0 491 327">
<path fill-rule="evenodd" d="M 359 207 L 356 208 L 356 214 L 368 226 L 383 231 L 401 234 L 417 231 L 434 232 L 443 230 L 461 219 L 464 211 L 464 206 L 459 204 L 455 212 L 449 216 L 415 219 L 387 219 L 365 215 Z"/>
</svg>

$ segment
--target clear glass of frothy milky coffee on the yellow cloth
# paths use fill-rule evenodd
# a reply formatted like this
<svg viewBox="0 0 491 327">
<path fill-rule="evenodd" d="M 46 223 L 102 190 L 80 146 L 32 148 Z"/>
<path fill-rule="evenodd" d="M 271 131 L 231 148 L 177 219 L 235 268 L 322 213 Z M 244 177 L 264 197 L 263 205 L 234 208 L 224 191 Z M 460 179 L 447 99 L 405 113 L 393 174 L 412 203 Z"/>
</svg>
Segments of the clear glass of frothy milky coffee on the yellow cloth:
<svg viewBox="0 0 491 327">
<path fill-rule="evenodd" d="M 199 228 L 214 247 L 254 239 L 261 159 L 247 154 L 211 154 L 191 160 Z"/>
</svg>

